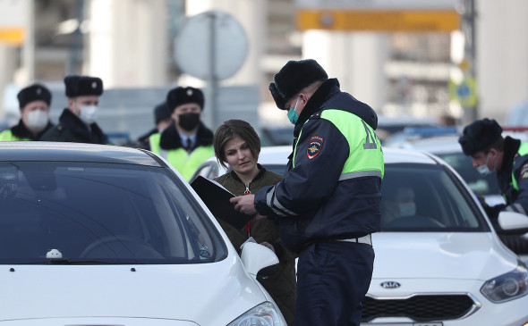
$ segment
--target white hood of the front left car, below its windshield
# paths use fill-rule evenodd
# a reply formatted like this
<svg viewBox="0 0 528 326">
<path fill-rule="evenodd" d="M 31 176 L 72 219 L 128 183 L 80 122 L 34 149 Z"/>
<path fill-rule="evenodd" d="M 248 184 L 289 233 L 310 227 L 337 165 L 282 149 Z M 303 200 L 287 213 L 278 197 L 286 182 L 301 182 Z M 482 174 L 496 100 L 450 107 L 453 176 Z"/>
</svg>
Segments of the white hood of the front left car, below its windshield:
<svg viewBox="0 0 528 326">
<path fill-rule="evenodd" d="M 104 316 L 226 325 L 268 300 L 235 258 L 189 265 L 4 265 L 0 282 L 0 322 Z"/>
</svg>

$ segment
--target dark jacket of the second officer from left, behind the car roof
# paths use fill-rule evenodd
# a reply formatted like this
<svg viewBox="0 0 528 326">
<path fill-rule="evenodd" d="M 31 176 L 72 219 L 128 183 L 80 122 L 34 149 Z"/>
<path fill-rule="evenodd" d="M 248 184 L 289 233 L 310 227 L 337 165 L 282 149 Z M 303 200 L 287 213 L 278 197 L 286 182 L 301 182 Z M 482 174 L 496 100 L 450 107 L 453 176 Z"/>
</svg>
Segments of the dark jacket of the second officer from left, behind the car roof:
<svg viewBox="0 0 528 326">
<path fill-rule="evenodd" d="M 97 123 L 90 124 L 88 128 L 88 126 L 68 108 L 65 108 L 59 117 L 59 124 L 54 128 L 47 130 L 40 140 L 110 144 L 108 137 L 103 130 L 99 128 Z"/>
</svg>

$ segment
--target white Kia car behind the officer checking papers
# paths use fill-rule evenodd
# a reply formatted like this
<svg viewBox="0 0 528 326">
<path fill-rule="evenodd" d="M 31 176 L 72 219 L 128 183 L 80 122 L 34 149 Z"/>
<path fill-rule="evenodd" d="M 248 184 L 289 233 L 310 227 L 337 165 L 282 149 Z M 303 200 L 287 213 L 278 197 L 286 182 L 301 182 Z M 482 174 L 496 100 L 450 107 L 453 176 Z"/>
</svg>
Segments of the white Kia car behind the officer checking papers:
<svg viewBox="0 0 528 326">
<path fill-rule="evenodd" d="M 260 163 L 277 163 L 278 157 L 284 170 L 289 152 L 291 147 L 269 147 Z M 383 152 L 382 230 L 372 236 L 376 259 L 362 325 L 528 322 L 526 266 L 499 240 L 459 174 L 435 155 Z M 224 172 L 214 164 L 214 158 L 203 164 L 209 178 Z M 501 216 L 503 228 L 528 230 L 528 218 L 513 214 Z"/>
</svg>

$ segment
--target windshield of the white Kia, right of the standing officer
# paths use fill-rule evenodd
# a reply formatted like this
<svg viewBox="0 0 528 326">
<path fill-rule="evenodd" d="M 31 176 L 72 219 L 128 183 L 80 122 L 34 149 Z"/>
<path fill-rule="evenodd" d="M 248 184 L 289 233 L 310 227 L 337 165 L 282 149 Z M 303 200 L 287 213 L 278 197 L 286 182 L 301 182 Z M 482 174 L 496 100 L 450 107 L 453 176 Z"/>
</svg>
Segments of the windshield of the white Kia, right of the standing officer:
<svg viewBox="0 0 528 326">
<path fill-rule="evenodd" d="M 387 164 L 381 189 L 383 231 L 488 230 L 471 195 L 441 165 Z"/>
</svg>

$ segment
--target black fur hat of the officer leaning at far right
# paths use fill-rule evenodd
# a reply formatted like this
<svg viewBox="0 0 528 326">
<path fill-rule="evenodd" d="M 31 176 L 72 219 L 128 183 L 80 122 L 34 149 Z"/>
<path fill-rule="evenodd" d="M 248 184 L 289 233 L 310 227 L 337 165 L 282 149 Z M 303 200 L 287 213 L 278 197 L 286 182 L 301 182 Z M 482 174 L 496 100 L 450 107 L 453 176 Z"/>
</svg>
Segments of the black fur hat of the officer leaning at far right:
<svg viewBox="0 0 528 326">
<path fill-rule="evenodd" d="M 489 148 L 501 137 L 502 128 L 497 121 L 484 118 L 476 120 L 465 126 L 458 143 L 462 146 L 464 155 L 474 155 Z"/>
</svg>

